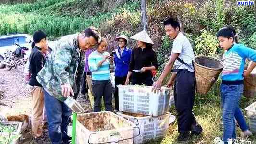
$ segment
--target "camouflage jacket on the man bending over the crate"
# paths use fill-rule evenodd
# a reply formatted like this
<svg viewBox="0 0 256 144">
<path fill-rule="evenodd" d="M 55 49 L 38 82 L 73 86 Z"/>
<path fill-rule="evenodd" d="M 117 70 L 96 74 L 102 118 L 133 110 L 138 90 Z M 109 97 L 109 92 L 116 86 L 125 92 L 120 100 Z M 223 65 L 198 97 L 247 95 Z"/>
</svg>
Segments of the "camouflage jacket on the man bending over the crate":
<svg viewBox="0 0 256 144">
<path fill-rule="evenodd" d="M 61 37 L 45 66 L 37 74 L 37 81 L 51 96 L 60 101 L 66 99 L 62 96 L 61 85 L 70 84 L 73 87 L 76 81 L 81 81 L 84 72 L 85 54 L 78 47 L 77 36 Z"/>
</svg>

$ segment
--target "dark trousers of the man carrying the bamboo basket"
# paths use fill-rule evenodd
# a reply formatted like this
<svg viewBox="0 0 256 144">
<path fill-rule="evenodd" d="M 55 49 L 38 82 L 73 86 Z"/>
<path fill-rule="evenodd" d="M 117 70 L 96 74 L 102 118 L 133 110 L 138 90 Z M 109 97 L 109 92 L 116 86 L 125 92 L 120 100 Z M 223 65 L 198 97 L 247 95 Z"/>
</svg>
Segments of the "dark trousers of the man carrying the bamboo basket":
<svg viewBox="0 0 256 144">
<path fill-rule="evenodd" d="M 191 125 L 196 124 L 192 112 L 195 100 L 195 73 L 187 70 L 177 72 L 174 84 L 174 101 L 177 111 L 178 132 L 191 131 Z"/>
</svg>

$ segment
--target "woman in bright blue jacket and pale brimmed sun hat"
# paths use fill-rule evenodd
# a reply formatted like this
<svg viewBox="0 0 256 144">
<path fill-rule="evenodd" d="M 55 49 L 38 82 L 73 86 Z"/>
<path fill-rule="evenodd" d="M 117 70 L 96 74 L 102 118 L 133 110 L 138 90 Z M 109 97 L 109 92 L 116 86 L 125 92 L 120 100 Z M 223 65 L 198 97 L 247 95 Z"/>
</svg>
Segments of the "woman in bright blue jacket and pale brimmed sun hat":
<svg viewBox="0 0 256 144">
<path fill-rule="evenodd" d="M 116 85 L 125 84 L 129 71 L 132 50 L 127 48 L 128 37 L 121 35 L 115 38 L 118 48 L 113 51 L 115 62 L 115 110 L 119 111 L 118 87 Z"/>
</svg>

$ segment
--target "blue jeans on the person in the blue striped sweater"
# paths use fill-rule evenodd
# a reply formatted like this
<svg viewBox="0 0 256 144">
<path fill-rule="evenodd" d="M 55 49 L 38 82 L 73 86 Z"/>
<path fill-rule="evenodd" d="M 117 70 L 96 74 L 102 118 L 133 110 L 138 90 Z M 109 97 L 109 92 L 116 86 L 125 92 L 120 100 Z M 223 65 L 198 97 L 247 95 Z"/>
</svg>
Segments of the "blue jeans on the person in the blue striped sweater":
<svg viewBox="0 0 256 144">
<path fill-rule="evenodd" d="M 227 142 L 228 139 L 236 138 L 236 124 L 237 120 L 242 131 L 247 130 L 246 121 L 244 120 L 243 113 L 239 108 L 239 100 L 243 94 L 244 85 L 225 85 L 221 84 L 220 91 L 222 96 L 223 108 L 223 141 Z M 225 143 L 226 144 L 226 143 Z"/>
</svg>

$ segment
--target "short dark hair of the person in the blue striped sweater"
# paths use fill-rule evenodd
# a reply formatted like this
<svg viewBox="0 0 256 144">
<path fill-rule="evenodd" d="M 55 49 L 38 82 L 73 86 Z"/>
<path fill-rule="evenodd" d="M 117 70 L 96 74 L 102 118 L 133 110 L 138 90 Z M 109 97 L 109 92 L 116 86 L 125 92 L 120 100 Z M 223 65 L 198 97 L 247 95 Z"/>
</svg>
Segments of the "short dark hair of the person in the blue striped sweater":
<svg viewBox="0 0 256 144">
<path fill-rule="evenodd" d="M 238 36 L 236 36 L 236 31 L 232 26 L 226 26 L 219 30 L 217 37 L 223 36 L 226 38 L 233 38 L 234 42 L 238 43 Z"/>
</svg>

